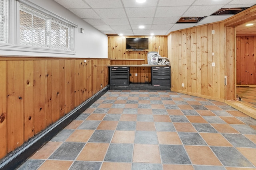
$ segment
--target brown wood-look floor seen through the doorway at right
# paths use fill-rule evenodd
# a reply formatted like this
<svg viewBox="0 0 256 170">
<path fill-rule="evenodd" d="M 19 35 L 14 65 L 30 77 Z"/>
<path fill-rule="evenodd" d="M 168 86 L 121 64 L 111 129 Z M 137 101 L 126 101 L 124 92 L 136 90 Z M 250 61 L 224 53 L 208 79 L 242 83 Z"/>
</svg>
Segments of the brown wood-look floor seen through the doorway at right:
<svg viewBox="0 0 256 170">
<path fill-rule="evenodd" d="M 256 87 L 236 87 L 236 94 L 242 98 L 240 102 L 256 109 Z"/>
</svg>

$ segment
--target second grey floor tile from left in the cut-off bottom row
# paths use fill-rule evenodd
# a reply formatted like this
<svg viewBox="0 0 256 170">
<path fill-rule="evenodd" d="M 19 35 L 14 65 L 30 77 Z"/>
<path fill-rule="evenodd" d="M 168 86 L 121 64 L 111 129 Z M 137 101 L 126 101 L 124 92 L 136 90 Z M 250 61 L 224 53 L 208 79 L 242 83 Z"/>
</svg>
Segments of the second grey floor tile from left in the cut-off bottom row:
<svg viewBox="0 0 256 170">
<path fill-rule="evenodd" d="M 101 162 L 75 161 L 69 170 L 99 170 Z"/>
</svg>

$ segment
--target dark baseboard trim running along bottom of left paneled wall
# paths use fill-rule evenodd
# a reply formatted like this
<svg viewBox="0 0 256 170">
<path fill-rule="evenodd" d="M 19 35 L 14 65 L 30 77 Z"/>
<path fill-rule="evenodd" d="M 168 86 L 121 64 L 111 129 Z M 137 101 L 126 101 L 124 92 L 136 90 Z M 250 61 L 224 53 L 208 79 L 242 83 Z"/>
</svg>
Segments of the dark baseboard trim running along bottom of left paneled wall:
<svg viewBox="0 0 256 170">
<path fill-rule="evenodd" d="M 83 111 L 90 107 L 96 100 L 98 100 L 104 93 L 109 90 L 109 85 L 94 94 L 91 98 L 73 109 L 70 113 L 60 118 L 58 121 L 44 129 L 38 135 L 32 137 L 25 142 L 18 149 L 10 152 L 0 160 L 0 170 L 14 170 L 29 158 L 34 152 L 40 149 L 44 144 L 50 141 L 57 133 L 64 127 L 78 117 Z"/>
</svg>

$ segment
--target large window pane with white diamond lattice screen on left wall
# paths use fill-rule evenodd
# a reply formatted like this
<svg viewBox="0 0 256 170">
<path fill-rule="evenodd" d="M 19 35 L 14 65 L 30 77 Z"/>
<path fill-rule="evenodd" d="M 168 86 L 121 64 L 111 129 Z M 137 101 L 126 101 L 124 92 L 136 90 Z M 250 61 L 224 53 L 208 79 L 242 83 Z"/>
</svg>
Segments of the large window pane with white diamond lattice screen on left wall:
<svg viewBox="0 0 256 170">
<path fill-rule="evenodd" d="M 73 51 L 73 27 L 20 4 L 20 44 Z"/>
</svg>

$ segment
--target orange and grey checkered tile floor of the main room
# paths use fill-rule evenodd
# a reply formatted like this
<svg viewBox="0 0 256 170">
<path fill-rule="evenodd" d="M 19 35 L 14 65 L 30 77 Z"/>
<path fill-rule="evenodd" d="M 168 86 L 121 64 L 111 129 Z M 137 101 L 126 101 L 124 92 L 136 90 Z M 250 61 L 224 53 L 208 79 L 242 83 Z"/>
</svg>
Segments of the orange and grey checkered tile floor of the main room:
<svg viewBox="0 0 256 170">
<path fill-rule="evenodd" d="M 18 170 L 256 170 L 256 120 L 171 91 L 109 90 Z"/>
</svg>

